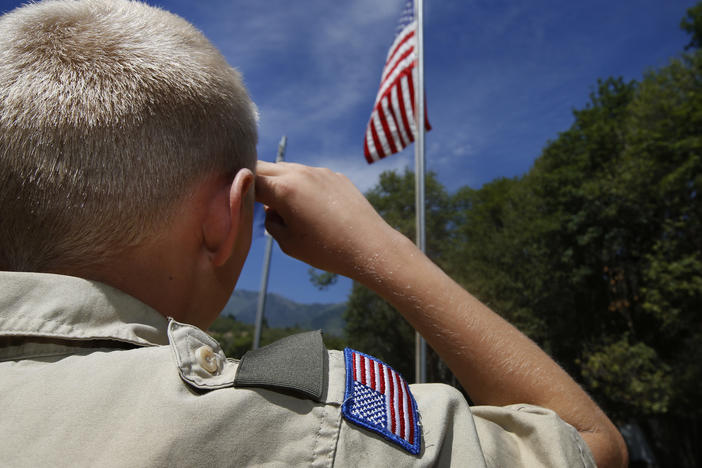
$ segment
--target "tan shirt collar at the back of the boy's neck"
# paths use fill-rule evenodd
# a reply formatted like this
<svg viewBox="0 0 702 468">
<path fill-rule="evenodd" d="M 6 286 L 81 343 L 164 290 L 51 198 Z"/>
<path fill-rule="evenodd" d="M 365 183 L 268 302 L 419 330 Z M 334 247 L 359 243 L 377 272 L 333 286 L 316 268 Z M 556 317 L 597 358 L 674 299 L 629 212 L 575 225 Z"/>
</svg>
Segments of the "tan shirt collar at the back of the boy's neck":
<svg viewBox="0 0 702 468">
<path fill-rule="evenodd" d="M 97 281 L 0 271 L 0 337 L 168 344 L 167 320 L 139 300 Z"/>
</svg>

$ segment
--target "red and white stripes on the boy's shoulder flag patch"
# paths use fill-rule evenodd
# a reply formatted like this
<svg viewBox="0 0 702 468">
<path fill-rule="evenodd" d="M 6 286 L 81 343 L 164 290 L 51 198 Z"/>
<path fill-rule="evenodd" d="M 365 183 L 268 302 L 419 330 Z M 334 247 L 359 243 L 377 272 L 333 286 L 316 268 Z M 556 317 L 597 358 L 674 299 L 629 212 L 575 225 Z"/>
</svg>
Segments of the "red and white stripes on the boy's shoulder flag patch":
<svg viewBox="0 0 702 468">
<path fill-rule="evenodd" d="M 414 411 L 409 387 L 400 374 L 375 359 L 353 353 L 353 379 L 385 395 L 387 429 L 414 443 Z"/>
</svg>

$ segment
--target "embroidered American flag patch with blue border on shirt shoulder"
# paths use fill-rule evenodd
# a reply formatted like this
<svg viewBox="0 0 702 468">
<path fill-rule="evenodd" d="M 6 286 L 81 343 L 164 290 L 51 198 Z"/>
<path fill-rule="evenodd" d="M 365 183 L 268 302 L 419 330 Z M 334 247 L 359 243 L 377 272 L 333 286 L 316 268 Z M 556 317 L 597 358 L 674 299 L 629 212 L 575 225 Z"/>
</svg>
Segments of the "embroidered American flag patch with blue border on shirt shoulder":
<svg viewBox="0 0 702 468">
<path fill-rule="evenodd" d="M 367 354 L 344 350 L 346 393 L 344 417 L 359 426 L 419 454 L 421 430 L 417 403 L 405 379 L 394 369 Z"/>
</svg>

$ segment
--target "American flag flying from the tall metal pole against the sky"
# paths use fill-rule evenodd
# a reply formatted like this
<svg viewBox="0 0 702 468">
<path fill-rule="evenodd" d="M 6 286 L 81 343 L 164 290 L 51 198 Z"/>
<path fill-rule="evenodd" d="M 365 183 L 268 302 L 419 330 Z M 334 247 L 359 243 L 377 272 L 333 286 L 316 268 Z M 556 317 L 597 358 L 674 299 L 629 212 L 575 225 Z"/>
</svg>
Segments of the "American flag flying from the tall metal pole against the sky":
<svg viewBox="0 0 702 468">
<path fill-rule="evenodd" d="M 400 17 L 395 41 L 388 51 L 380 89 L 366 128 L 363 151 L 368 163 L 401 151 L 417 135 L 413 78 L 417 63 L 416 30 L 417 20 L 409 1 Z M 430 130 L 429 121 L 426 118 L 424 121 L 425 128 Z"/>
</svg>

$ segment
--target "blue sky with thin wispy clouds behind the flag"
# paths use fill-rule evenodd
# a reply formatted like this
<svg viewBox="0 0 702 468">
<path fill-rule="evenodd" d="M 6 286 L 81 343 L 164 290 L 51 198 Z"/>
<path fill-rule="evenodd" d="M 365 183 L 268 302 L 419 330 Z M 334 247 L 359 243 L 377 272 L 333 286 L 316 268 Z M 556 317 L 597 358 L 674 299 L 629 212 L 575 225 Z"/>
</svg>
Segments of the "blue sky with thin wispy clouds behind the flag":
<svg viewBox="0 0 702 468">
<path fill-rule="evenodd" d="M 22 2 L 0 1 L 7 11 Z M 259 157 L 327 166 L 367 190 L 413 165 L 413 148 L 373 165 L 363 133 L 404 0 L 150 0 L 192 22 L 244 75 L 261 113 Z M 427 167 L 449 190 L 525 173 L 572 123 L 598 78 L 639 79 L 680 54 L 692 0 L 425 0 Z M 431 233 L 427 234 L 428 236 Z M 264 238 L 237 287 L 257 290 Z M 346 299 L 273 252 L 269 291 L 299 302 Z"/>
</svg>

